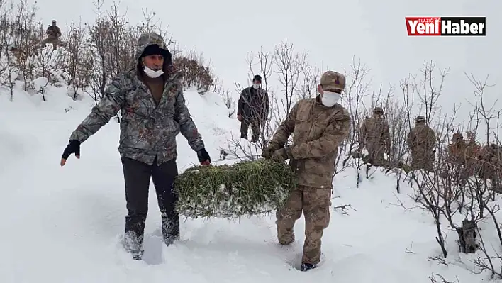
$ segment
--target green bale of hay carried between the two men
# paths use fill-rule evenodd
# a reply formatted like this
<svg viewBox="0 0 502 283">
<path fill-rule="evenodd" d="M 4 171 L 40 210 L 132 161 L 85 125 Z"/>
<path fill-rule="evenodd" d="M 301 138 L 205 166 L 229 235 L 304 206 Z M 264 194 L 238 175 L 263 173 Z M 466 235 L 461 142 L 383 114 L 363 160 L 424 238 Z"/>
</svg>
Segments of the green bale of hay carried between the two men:
<svg viewBox="0 0 502 283">
<path fill-rule="evenodd" d="M 237 218 L 284 206 L 296 186 L 289 165 L 256 160 L 192 167 L 174 181 L 177 210 L 191 218 Z"/>
</svg>

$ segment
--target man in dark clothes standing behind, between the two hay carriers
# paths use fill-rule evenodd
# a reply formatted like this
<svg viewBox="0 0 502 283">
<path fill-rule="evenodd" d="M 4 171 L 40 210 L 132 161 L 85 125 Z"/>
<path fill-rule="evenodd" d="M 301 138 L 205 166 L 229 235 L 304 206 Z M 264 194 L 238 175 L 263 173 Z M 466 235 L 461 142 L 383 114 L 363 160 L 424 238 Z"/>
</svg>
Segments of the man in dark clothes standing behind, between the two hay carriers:
<svg viewBox="0 0 502 283">
<path fill-rule="evenodd" d="M 252 86 L 242 89 L 237 106 L 237 118 L 240 121 L 240 138 L 247 140 L 249 126 L 252 129 L 251 142 L 260 137 L 260 128 L 269 116 L 269 94 L 262 89 L 262 77 L 255 75 Z"/>
</svg>

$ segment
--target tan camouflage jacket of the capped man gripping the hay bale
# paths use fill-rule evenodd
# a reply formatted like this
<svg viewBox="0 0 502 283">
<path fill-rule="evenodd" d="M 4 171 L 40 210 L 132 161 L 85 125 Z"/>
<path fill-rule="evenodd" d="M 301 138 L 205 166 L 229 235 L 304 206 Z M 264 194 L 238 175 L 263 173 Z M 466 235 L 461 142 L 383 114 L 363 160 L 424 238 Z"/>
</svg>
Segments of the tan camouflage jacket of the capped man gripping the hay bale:
<svg viewBox="0 0 502 283">
<path fill-rule="evenodd" d="M 338 146 L 350 130 L 350 115 L 340 104 L 326 107 L 315 99 L 301 99 L 281 123 L 270 148 L 284 147 L 293 134 L 290 165 L 301 186 L 331 189 Z"/>
</svg>

